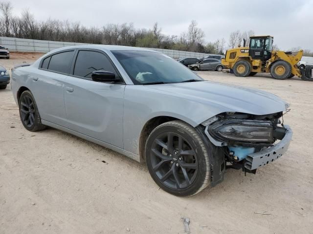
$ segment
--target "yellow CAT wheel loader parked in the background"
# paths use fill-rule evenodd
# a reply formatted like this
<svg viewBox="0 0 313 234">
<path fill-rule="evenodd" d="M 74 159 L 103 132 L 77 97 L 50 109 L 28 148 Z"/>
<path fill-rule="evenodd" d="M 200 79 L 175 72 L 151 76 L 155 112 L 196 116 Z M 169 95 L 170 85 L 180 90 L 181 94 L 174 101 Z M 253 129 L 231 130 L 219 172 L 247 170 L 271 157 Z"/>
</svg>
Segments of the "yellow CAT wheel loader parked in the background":
<svg viewBox="0 0 313 234">
<path fill-rule="evenodd" d="M 226 51 L 222 59 L 224 67 L 232 69 L 235 76 L 247 77 L 257 73 L 270 73 L 272 78 L 286 79 L 293 76 L 303 80 L 313 81 L 312 66 L 299 69 L 297 63 L 301 60 L 303 50 L 284 52 L 272 50 L 272 36 L 252 36 L 249 47 L 237 47 Z"/>
</svg>

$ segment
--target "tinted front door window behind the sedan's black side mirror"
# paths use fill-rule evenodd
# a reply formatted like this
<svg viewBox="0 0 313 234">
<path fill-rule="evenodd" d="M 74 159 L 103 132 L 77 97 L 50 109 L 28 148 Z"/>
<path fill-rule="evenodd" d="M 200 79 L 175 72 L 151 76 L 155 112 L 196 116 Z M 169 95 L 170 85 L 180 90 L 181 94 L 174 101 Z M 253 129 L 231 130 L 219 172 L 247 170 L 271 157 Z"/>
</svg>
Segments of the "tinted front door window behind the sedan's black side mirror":
<svg viewBox="0 0 313 234">
<path fill-rule="evenodd" d="M 94 51 L 79 51 L 74 68 L 74 75 L 91 78 L 93 71 L 116 72 L 110 60 L 102 53 Z"/>
</svg>

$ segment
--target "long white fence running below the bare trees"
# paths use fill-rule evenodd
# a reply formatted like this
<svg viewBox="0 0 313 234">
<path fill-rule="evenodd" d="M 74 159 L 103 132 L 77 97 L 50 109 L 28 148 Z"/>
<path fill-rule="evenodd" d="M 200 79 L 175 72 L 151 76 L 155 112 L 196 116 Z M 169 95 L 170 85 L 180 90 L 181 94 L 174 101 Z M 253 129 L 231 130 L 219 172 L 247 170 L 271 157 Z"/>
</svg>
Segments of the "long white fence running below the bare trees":
<svg viewBox="0 0 313 234">
<path fill-rule="evenodd" d="M 86 45 L 86 43 L 0 37 L 0 45 L 4 46 L 5 48 L 8 48 L 9 51 L 46 53 L 51 50 L 61 48 L 64 46 Z M 166 50 L 166 49 L 157 49 L 157 48 L 147 48 L 147 49 L 156 50 L 174 59 L 182 59 L 182 58 L 201 59 L 209 55 L 209 54 L 180 51 L 180 50 Z"/>
</svg>

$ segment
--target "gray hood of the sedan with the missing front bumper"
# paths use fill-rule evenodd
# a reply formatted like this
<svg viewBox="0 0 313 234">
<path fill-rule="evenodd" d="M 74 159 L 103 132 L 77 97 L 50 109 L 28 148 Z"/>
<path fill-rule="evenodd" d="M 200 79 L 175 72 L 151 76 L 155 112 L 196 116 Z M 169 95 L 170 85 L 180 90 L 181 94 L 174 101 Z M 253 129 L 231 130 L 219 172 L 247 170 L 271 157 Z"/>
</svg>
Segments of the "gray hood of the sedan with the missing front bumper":
<svg viewBox="0 0 313 234">
<path fill-rule="evenodd" d="M 267 115 L 285 111 L 289 107 L 287 102 L 268 92 L 212 81 L 148 86 L 154 92 L 205 104 L 215 114 L 241 112 Z"/>
</svg>

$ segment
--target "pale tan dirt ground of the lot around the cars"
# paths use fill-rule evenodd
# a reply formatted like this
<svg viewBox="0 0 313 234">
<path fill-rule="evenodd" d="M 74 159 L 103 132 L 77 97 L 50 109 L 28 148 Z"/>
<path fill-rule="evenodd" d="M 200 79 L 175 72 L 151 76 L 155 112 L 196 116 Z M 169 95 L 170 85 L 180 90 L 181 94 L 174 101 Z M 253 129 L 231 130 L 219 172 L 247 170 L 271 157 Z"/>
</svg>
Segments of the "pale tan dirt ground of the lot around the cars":
<svg viewBox="0 0 313 234">
<path fill-rule="evenodd" d="M 12 54 L 0 64 L 39 56 Z M 313 82 L 199 74 L 290 102 L 288 152 L 256 175 L 229 169 L 222 184 L 176 197 L 144 164 L 55 129 L 28 132 L 8 87 L 0 91 L 0 234 L 182 234 L 181 218 L 193 234 L 313 233 Z"/>
</svg>

